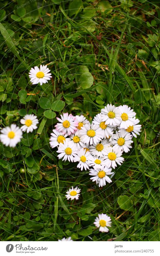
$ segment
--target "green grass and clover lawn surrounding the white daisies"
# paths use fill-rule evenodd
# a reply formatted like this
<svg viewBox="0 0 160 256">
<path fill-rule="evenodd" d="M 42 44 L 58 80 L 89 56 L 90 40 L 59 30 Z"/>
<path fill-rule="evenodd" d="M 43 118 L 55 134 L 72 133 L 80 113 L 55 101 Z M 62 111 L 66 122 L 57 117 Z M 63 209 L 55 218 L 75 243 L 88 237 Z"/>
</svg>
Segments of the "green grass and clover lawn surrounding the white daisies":
<svg viewBox="0 0 160 256">
<path fill-rule="evenodd" d="M 158 1 L 52 2 L 0 2 L 1 127 L 27 112 L 39 119 L 37 133 L 25 133 L 16 148 L 0 144 L 0 239 L 158 241 Z M 42 63 L 53 78 L 32 85 L 28 72 Z M 55 109 L 56 100 L 65 107 Z M 113 182 L 100 189 L 76 164 L 58 161 L 49 138 L 62 112 L 92 121 L 107 103 L 131 106 L 142 132 Z M 79 200 L 66 201 L 66 190 L 77 185 Z M 98 213 L 111 216 L 110 232 L 95 229 Z"/>
</svg>

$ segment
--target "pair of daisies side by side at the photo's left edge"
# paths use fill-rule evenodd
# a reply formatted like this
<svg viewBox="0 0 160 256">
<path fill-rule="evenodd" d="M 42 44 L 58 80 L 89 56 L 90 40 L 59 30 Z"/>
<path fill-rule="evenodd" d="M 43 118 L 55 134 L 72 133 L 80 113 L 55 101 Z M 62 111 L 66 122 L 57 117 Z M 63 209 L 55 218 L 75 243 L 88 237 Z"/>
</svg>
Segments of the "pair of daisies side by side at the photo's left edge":
<svg viewBox="0 0 160 256">
<path fill-rule="evenodd" d="M 37 128 L 38 119 L 36 115 L 25 115 L 21 120 L 20 123 L 22 126 L 19 128 L 15 124 L 11 124 L 9 127 L 2 128 L 0 134 L 0 141 L 9 147 L 15 147 L 17 143 L 19 143 L 22 139 L 23 132 L 32 132 Z"/>
</svg>

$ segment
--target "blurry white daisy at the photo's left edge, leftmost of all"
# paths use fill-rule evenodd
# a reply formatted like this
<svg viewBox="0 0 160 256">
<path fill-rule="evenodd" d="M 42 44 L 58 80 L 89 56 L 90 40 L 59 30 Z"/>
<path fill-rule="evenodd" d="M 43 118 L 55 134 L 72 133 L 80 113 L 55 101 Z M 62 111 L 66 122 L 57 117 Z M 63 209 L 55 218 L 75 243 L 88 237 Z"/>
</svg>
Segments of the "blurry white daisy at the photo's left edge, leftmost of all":
<svg viewBox="0 0 160 256">
<path fill-rule="evenodd" d="M 1 133 L 2 134 L 0 134 L 0 141 L 7 147 L 15 147 L 22 138 L 21 129 L 14 124 L 12 124 L 11 127 L 7 126 L 5 128 L 2 128 Z"/>
</svg>

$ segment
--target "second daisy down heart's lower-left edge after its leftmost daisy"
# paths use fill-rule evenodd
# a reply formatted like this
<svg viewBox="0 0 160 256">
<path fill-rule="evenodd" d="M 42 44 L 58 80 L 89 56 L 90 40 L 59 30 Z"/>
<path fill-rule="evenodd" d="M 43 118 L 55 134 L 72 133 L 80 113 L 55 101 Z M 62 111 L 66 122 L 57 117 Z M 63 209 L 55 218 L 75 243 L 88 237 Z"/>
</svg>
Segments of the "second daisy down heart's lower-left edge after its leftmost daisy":
<svg viewBox="0 0 160 256">
<path fill-rule="evenodd" d="M 80 168 L 81 171 L 83 168 L 89 169 L 89 160 L 92 159 L 92 155 L 89 152 L 86 152 L 86 149 L 81 148 L 77 151 L 77 155 L 74 157 L 74 162 L 79 162 L 77 168 Z"/>
</svg>

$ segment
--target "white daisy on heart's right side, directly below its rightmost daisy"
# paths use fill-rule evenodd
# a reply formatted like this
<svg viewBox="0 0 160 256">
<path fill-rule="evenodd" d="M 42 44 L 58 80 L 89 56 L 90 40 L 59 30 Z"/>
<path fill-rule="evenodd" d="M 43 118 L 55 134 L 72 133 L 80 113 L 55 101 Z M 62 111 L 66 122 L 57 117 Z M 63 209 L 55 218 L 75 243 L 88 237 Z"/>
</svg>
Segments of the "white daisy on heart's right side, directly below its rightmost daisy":
<svg viewBox="0 0 160 256">
<path fill-rule="evenodd" d="M 131 143 L 133 143 L 133 141 L 131 139 L 132 135 L 127 131 L 123 129 L 116 131 L 112 140 L 112 144 L 114 145 L 113 149 L 117 148 L 118 150 L 124 150 L 125 153 L 128 153 L 130 151 L 129 148 L 132 148 Z"/>
</svg>

